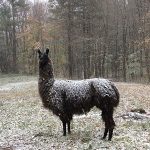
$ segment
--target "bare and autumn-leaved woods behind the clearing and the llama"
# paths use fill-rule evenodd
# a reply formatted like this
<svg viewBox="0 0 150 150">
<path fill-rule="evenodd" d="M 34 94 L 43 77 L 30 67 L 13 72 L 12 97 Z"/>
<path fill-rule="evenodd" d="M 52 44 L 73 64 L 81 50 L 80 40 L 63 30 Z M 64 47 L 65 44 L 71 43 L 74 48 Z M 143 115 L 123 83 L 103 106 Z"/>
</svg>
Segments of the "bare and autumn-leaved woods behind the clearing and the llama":
<svg viewBox="0 0 150 150">
<path fill-rule="evenodd" d="M 58 78 L 150 82 L 150 1 L 1 0 L 0 72 L 36 74 L 46 47 Z"/>
</svg>

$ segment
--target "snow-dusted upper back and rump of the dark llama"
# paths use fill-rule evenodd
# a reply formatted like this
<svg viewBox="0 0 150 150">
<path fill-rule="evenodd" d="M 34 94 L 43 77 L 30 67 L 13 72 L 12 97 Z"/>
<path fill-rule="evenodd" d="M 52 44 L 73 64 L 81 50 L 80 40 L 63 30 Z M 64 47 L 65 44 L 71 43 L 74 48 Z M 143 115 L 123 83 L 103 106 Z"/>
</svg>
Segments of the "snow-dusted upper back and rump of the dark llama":
<svg viewBox="0 0 150 150">
<path fill-rule="evenodd" d="M 93 78 L 86 80 L 56 80 L 53 88 L 58 92 L 66 92 L 68 98 L 84 99 L 94 91 L 103 97 L 119 99 L 119 92 L 115 85 L 106 79 Z"/>
</svg>

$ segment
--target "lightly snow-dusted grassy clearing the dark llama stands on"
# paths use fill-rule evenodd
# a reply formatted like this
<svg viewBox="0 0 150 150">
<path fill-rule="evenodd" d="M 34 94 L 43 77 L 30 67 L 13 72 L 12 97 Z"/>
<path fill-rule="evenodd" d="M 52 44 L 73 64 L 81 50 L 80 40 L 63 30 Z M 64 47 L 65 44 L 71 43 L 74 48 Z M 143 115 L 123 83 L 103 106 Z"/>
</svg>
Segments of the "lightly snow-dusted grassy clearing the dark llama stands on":
<svg viewBox="0 0 150 150">
<path fill-rule="evenodd" d="M 101 111 L 74 116 L 71 135 L 62 136 L 61 121 L 42 107 L 36 77 L 0 78 L 0 150 L 150 150 L 150 119 L 124 118 L 131 109 L 150 112 L 150 85 L 115 83 L 120 104 L 111 142 L 101 140 Z"/>
</svg>

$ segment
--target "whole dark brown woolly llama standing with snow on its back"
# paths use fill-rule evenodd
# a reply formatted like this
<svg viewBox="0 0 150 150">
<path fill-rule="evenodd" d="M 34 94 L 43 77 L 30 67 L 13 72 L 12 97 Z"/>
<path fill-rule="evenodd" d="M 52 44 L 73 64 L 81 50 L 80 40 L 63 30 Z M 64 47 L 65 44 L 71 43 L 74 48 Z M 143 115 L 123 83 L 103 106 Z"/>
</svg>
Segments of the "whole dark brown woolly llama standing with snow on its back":
<svg viewBox="0 0 150 150">
<path fill-rule="evenodd" d="M 102 110 L 105 131 L 108 140 L 113 136 L 115 122 L 114 108 L 119 104 L 119 92 L 115 85 L 106 79 L 94 78 L 85 80 L 55 80 L 53 67 L 48 57 L 49 49 L 39 54 L 39 94 L 46 109 L 51 110 L 63 124 L 63 135 L 66 126 L 70 131 L 70 122 L 74 114 L 86 114 L 96 106 Z"/>
</svg>

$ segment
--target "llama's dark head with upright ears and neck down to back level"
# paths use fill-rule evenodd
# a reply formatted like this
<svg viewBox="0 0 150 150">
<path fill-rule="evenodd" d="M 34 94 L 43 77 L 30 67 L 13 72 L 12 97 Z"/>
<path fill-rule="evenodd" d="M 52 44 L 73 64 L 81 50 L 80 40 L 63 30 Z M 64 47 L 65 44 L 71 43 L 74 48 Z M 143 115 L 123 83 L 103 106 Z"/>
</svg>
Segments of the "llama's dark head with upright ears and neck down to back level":
<svg viewBox="0 0 150 150">
<path fill-rule="evenodd" d="M 38 50 L 39 54 L 39 74 L 43 79 L 53 78 L 53 68 L 51 60 L 48 57 L 49 49 L 46 49 L 46 52 L 42 53 Z"/>
</svg>

